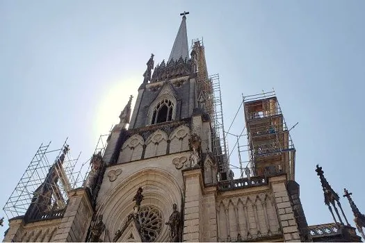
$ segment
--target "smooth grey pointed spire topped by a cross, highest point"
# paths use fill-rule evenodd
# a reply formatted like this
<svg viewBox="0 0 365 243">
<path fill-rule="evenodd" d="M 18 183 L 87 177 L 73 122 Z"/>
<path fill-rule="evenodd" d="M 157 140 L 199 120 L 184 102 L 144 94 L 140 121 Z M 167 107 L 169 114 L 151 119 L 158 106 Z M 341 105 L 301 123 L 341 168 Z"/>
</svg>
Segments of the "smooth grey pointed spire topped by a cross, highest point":
<svg viewBox="0 0 365 243">
<path fill-rule="evenodd" d="M 174 46 L 172 47 L 170 58 L 168 58 L 168 62 L 170 60 L 177 61 L 179 58 L 186 59 L 189 56 L 189 48 L 188 48 L 188 34 L 186 32 L 186 16 L 189 12 L 183 12 L 180 15 L 182 16 L 181 24 L 179 31 L 177 32 L 177 36 L 175 38 Z"/>
</svg>

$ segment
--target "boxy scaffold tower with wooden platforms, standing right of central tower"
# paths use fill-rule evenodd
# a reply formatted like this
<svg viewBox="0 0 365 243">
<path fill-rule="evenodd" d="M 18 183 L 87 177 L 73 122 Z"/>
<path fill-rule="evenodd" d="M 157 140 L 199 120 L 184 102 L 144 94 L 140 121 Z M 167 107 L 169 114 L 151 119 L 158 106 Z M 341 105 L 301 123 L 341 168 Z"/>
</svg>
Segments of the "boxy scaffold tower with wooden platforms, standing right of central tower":
<svg viewBox="0 0 365 243">
<path fill-rule="evenodd" d="M 284 172 L 294 180 L 295 147 L 275 91 L 243 97 L 243 106 L 248 145 L 242 151 L 248 152 L 252 174 Z"/>
</svg>

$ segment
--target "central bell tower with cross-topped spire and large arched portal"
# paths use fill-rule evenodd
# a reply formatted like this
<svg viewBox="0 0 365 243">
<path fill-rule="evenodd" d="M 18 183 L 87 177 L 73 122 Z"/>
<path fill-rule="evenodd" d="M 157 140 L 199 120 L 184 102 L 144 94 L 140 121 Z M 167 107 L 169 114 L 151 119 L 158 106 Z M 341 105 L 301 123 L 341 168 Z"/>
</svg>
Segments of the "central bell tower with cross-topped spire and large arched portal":
<svg viewBox="0 0 365 243">
<path fill-rule="evenodd" d="M 227 165 L 214 156 L 222 149 L 211 124 L 213 87 L 200 41 L 189 55 L 186 15 L 167 62 L 155 66 L 152 53 L 133 112 L 129 101 L 108 137 L 89 240 L 202 241 L 203 220 L 216 221 L 203 217 L 200 188 L 215 185 Z"/>
</svg>

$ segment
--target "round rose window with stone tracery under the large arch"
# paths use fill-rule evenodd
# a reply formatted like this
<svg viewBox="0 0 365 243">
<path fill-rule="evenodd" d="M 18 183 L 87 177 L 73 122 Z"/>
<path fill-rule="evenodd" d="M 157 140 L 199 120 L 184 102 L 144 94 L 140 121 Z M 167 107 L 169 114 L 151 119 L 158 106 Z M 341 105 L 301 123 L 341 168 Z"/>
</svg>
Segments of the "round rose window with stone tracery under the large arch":
<svg viewBox="0 0 365 243">
<path fill-rule="evenodd" d="M 141 206 L 138 211 L 138 221 L 145 242 L 154 242 L 163 226 L 160 210 L 153 206 Z"/>
</svg>

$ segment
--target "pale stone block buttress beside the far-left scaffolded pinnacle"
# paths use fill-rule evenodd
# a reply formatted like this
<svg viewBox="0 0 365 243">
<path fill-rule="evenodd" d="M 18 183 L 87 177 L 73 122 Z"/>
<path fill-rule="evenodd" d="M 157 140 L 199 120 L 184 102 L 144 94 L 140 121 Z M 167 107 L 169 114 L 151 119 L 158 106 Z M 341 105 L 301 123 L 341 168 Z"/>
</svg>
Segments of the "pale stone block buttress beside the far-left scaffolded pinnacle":
<svg viewBox="0 0 365 243">
<path fill-rule="evenodd" d="M 85 242 L 93 210 L 85 188 L 70 191 L 67 210 L 58 226 L 54 242 Z"/>
</svg>

